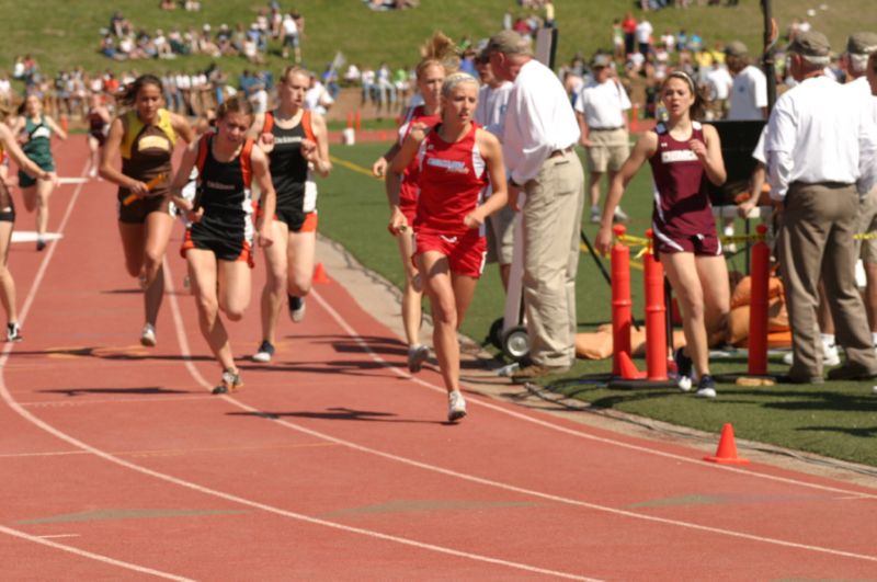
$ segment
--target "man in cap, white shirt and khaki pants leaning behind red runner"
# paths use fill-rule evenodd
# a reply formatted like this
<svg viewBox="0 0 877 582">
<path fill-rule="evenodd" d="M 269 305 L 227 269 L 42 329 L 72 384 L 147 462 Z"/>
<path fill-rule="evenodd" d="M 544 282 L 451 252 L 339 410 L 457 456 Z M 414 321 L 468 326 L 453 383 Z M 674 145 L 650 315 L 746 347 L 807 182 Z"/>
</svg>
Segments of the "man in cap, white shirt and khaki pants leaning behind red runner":
<svg viewBox="0 0 877 582">
<path fill-rule="evenodd" d="M 513 32 L 493 35 L 490 66 L 513 83 L 503 130 L 509 169 L 509 201 L 526 194 L 524 300 L 532 364 L 513 380 L 527 381 L 566 372 L 576 361 L 576 271 L 584 201 L 584 172 L 573 146 L 579 124 L 557 76 L 533 58 L 529 45 Z"/>
</svg>

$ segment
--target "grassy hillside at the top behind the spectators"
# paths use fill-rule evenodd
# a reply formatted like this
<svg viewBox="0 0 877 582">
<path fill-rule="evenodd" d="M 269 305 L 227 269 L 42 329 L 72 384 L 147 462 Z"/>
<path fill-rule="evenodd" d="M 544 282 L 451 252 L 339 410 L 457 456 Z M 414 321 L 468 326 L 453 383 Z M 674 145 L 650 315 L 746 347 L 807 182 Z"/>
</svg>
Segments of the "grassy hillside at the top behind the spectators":
<svg viewBox="0 0 877 582">
<path fill-rule="evenodd" d="M 201 12 L 159 10 L 157 1 L 116 0 L 43 0 L 41 2 L 4 2 L 4 31 L 0 35 L 0 54 L 12 66 L 19 54 L 32 54 L 43 71 L 54 75 L 59 68 L 82 66 L 89 71 L 111 69 L 115 72 L 136 68 L 139 72 L 166 69 L 194 71 L 206 68 L 213 60 L 191 56 L 175 60 L 137 60 L 115 62 L 98 53 L 99 31 L 107 27 L 113 11 L 121 11 L 138 28 L 149 32 L 173 26 L 201 28 L 209 23 L 214 31 L 223 23 L 234 28 L 241 22 L 249 25 L 266 1 L 206 0 Z M 281 2 L 284 9 L 295 5 L 306 20 L 303 54 L 306 65 L 322 70 L 338 50 L 350 61 L 377 67 L 387 61 L 391 67 L 411 66 L 418 58 L 417 47 L 433 31 L 441 30 L 453 38 L 469 36 L 485 38 L 497 32 L 506 9 L 524 13 L 514 0 L 422 0 L 413 10 L 373 12 L 361 0 L 297 0 Z M 560 0 L 555 2 L 560 31 L 558 62 L 568 61 L 577 52 L 589 57 L 596 48 L 611 48 L 611 25 L 614 19 L 630 10 L 629 0 Z M 804 16 L 809 4 L 794 0 L 775 0 L 774 13 L 781 32 L 791 19 Z M 816 7 L 817 4 L 813 4 Z M 744 41 L 750 49 L 760 46 L 762 18 L 760 2 L 750 0 L 730 9 L 724 7 L 692 7 L 686 10 L 667 9 L 649 12 L 656 36 L 664 31 L 685 28 L 698 32 L 708 44 L 732 38 Z M 816 30 L 828 34 L 835 50 L 841 50 L 850 32 L 863 26 L 863 19 L 873 13 L 873 0 L 832 0 L 828 10 L 817 9 L 809 19 Z M 634 11 L 639 16 L 639 11 Z M 873 19 L 872 19 L 873 22 Z M 873 28 L 873 26 L 870 26 Z M 265 67 L 280 70 L 284 61 L 277 43 L 271 47 Z M 240 57 L 217 59 L 230 73 L 248 67 Z"/>
</svg>

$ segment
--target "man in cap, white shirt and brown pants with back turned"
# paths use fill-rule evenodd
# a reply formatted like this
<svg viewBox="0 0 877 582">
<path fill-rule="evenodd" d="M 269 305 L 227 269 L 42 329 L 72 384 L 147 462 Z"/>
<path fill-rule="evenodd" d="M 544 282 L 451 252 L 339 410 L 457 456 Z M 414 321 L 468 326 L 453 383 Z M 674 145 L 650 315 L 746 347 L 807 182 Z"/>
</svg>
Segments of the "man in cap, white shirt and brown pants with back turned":
<svg viewBox="0 0 877 582">
<path fill-rule="evenodd" d="M 777 100 L 765 145 L 771 197 L 783 206 L 778 256 L 794 353 L 788 379 L 823 381 L 816 316 L 820 273 L 838 343 L 846 351 L 845 364 L 830 370 L 829 378 L 877 377 L 877 355 L 855 284 L 853 240 L 859 195 L 877 179 L 870 112 L 848 89 L 824 76 L 830 46 L 823 34 L 799 34 L 788 53 L 799 84 Z"/>
</svg>

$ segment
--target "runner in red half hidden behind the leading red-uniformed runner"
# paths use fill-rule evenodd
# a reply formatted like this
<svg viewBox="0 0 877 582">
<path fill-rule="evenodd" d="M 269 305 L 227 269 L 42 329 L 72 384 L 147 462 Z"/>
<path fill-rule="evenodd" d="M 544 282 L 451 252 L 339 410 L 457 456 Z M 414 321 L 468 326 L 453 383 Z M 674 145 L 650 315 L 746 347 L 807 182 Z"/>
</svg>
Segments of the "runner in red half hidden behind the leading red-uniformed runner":
<svg viewBox="0 0 877 582">
<path fill-rule="evenodd" d="M 457 62 L 453 57 L 453 50 L 454 45 L 451 39 L 441 33 L 436 33 L 422 50 L 424 58 L 417 67 L 417 76 L 418 90 L 423 98 L 423 104 L 412 107 L 408 112 L 405 123 L 399 127 L 398 141 L 372 167 L 375 175 L 385 174 L 387 163 L 394 160 L 412 128 L 432 128 L 438 123 L 442 82 L 444 82 L 445 76 L 452 72 L 448 69 L 455 69 Z M 405 269 L 402 326 L 408 340 L 408 369 L 412 373 L 419 372 L 430 355 L 429 347 L 420 343 L 422 292 L 418 271 L 410 260 L 414 250 L 413 231 L 409 227 L 413 225 L 417 208 L 417 163 L 412 161 L 401 175 L 390 172 L 386 181 L 390 208 L 398 199 L 399 208 L 407 220 L 406 228 L 399 228 L 395 232 Z"/>
</svg>

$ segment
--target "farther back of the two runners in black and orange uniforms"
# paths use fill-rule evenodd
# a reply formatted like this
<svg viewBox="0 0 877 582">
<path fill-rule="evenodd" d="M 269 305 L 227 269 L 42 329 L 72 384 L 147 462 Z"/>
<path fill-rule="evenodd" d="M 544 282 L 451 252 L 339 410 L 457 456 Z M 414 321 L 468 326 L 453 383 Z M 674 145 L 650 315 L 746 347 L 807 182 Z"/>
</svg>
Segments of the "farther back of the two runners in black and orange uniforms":
<svg viewBox="0 0 877 582">
<path fill-rule="evenodd" d="M 277 193 L 274 215 L 275 243 L 265 249 L 267 277 L 262 289 L 262 343 L 252 356 L 271 362 L 275 351 L 277 319 L 284 294 L 289 317 L 305 316 L 305 296 L 314 277 L 317 244 L 317 184 L 314 173 L 326 178 L 332 169 L 322 116 L 303 109 L 309 75 L 287 68 L 278 85 L 280 105 L 257 116 L 250 136 L 271 158 L 271 179 Z"/>
</svg>

